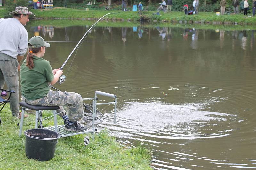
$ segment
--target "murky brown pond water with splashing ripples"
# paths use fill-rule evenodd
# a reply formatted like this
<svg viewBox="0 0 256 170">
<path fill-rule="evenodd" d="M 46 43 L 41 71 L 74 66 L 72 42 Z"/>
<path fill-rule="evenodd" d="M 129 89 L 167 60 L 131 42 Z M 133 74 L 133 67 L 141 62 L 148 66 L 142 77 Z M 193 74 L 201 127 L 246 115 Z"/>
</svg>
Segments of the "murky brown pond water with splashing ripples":
<svg viewBox="0 0 256 170">
<path fill-rule="evenodd" d="M 27 26 L 29 38 L 50 42 L 44 58 L 53 69 L 88 29 Z M 255 36 L 255 30 L 95 27 L 55 87 L 83 98 L 95 90 L 115 94 L 116 124 L 113 106 L 99 106 L 98 129 L 108 128 L 122 145 L 145 145 L 155 169 L 256 168 Z"/>
</svg>

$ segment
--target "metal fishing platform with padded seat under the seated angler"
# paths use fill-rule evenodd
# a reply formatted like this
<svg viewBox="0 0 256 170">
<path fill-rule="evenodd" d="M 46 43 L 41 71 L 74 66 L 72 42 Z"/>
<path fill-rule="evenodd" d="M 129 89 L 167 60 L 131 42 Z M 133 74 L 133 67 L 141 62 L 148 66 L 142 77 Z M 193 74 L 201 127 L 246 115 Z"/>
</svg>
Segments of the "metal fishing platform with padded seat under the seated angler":
<svg viewBox="0 0 256 170">
<path fill-rule="evenodd" d="M 113 102 L 105 102 L 105 103 L 97 103 L 98 97 L 97 95 L 101 96 L 106 96 L 112 99 L 115 99 Z M 29 108 L 31 110 L 36 110 L 36 120 L 35 120 L 35 128 L 44 128 L 48 129 L 50 131 L 54 131 L 56 133 L 60 134 L 60 137 L 67 137 L 67 136 L 74 136 L 74 135 L 79 135 L 79 134 L 85 134 L 85 133 L 92 133 L 92 139 L 94 140 L 94 133 L 97 131 L 95 128 L 95 119 L 99 119 L 102 121 L 99 117 L 97 117 L 97 114 L 101 114 L 100 111 L 97 110 L 97 105 L 108 105 L 108 104 L 114 104 L 115 109 L 114 109 L 114 122 L 116 123 L 116 105 L 117 105 L 117 97 L 114 94 L 102 92 L 102 91 L 95 91 L 95 96 L 93 98 L 83 98 L 83 101 L 85 100 L 92 100 L 92 105 L 89 104 L 84 104 L 84 115 L 88 118 L 88 115 L 92 119 L 87 119 L 87 120 L 92 120 L 92 125 L 90 127 L 87 126 L 88 130 L 83 131 L 83 132 L 75 132 L 75 131 L 66 131 L 64 129 L 65 125 L 58 125 L 57 124 L 57 115 L 58 113 L 56 112 L 56 109 L 58 109 L 58 106 L 44 106 L 43 108 L 41 106 L 41 109 L 38 107 L 32 107 L 32 105 L 28 105 L 25 102 L 20 102 L 20 105 L 22 106 L 22 114 L 21 114 L 21 120 L 20 120 L 20 131 L 19 131 L 19 136 L 21 135 L 22 131 L 22 125 L 23 125 L 23 119 L 24 119 L 24 112 L 26 108 Z M 47 109 L 49 107 L 49 109 Z M 54 108 L 55 107 L 55 108 Z M 53 116 L 54 117 L 54 126 L 51 127 L 43 127 L 42 121 L 45 119 L 48 119 L 50 117 L 47 117 L 45 119 L 42 119 L 42 110 L 53 110 Z M 38 125 L 38 122 L 40 125 Z M 83 123 L 83 121 L 82 121 Z"/>
</svg>

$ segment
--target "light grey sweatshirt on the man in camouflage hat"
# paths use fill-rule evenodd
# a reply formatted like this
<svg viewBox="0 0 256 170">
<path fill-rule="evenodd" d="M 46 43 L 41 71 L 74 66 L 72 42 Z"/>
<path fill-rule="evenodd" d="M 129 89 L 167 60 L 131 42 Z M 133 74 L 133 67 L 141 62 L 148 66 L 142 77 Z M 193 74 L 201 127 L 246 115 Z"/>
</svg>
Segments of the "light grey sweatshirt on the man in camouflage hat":
<svg viewBox="0 0 256 170">
<path fill-rule="evenodd" d="M 17 59 L 28 48 L 28 32 L 16 18 L 0 19 L 0 53 Z"/>
</svg>

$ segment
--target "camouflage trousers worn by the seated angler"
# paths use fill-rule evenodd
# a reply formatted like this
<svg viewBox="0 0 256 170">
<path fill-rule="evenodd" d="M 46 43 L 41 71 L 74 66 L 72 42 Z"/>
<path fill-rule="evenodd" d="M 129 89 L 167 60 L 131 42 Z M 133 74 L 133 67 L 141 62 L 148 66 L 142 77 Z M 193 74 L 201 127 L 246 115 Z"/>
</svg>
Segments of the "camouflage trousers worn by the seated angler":
<svg viewBox="0 0 256 170">
<path fill-rule="evenodd" d="M 84 119 L 83 100 L 80 94 L 74 92 L 62 92 L 50 90 L 44 98 L 36 100 L 28 100 L 22 96 L 22 100 L 28 104 L 40 106 L 60 106 L 57 110 L 59 116 L 63 116 L 65 110 L 63 106 L 67 107 L 68 120 L 79 121 Z"/>
</svg>

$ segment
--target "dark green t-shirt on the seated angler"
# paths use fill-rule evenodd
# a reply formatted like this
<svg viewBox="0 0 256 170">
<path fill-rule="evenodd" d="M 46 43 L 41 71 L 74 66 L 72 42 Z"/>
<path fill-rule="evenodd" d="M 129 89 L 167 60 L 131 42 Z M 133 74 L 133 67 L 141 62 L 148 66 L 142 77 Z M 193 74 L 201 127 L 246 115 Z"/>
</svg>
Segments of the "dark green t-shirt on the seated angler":
<svg viewBox="0 0 256 170">
<path fill-rule="evenodd" d="M 49 83 L 53 80 L 52 67 L 49 61 L 33 56 L 34 68 L 26 66 L 26 60 L 21 65 L 21 94 L 28 100 L 45 97 L 49 92 Z"/>
</svg>

